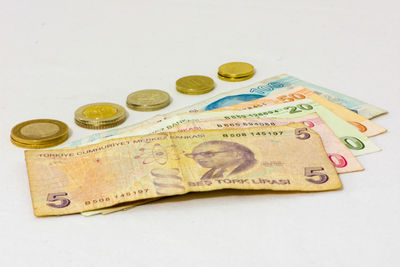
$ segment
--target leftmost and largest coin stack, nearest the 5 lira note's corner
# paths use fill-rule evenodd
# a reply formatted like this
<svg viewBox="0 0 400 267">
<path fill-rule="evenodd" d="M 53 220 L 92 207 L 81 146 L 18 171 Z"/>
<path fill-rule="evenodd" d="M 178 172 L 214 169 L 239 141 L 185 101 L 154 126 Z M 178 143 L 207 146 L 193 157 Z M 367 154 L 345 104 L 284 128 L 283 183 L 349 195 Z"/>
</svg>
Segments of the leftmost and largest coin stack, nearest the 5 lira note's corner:
<svg viewBox="0 0 400 267">
<path fill-rule="evenodd" d="M 57 120 L 37 119 L 22 122 L 11 130 L 11 142 L 19 147 L 53 147 L 68 139 L 68 126 Z"/>
</svg>

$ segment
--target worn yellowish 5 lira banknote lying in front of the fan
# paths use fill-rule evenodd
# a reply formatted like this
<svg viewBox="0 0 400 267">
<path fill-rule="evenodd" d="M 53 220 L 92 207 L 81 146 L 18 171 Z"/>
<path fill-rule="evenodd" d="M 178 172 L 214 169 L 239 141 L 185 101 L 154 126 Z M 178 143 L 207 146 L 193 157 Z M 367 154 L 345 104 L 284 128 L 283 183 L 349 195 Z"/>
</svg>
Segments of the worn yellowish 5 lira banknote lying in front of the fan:
<svg viewBox="0 0 400 267">
<path fill-rule="evenodd" d="M 340 179 L 304 124 L 159 133 L 26 151 L 36 216 L 195 191 L 326 191 Z"/>
</svg>

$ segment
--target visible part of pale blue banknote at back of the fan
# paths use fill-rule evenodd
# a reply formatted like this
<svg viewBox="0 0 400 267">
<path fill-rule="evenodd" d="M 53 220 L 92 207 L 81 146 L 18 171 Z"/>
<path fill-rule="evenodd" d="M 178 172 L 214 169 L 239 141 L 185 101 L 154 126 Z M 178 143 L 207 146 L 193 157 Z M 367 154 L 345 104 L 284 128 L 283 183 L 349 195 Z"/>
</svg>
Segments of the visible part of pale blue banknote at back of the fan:
<svg viewBox="0 0 400 267">
<path fill-rule="evenodd" d="M 123 133 L 131 132 L 132 129 L 140 125 L 149 125 L 154 124 L 159 121 L 165 120 L 168 117 L 172 117 L 174 115 L 182 114 L 185 112 L 195 113 L 195 112 L 203 112 L 203 111 L 210 111 L 219 109 L 226 106 L 236 105 L 243 102 L 252 101 L 255 99 L 263 98 L 269 95 L 283 93 L 289 89 L 292 89 L 296 86 L 303 86 L 307 89 L 313 91 L 314 93 L 324 97 L 325 99 L 339 104 L 341 106 L 346 107 L 349 110 L 352 110 L 359 115 L 371 119 L 377 117 L 379 115 L 387 113 L 387 111 L 375 107 L 373 105 L 367 104 L 362 102 L 358 99 L 343 95 L 341 93 L 305 82 L 300 80 L 296 77 L 282 74 L 277 75 L 272 78 L 265 79 L 261 82 L 239 88 L 227 93 L 219 94 L 215 97 L 207 99 L 205 101 L 201 101 L 197 104 L 190 105 L 184 107 L 182 109 L 178 109 L 176 111 L 164 114 L 164 115 L 157 115 L 151 119 L 148 119 L 144 122 L 137 123 L 134 125 L 130 125 L 127 127 L 119 128 L 119 129 L 112 129 L 109 131 L 104 131 L 101 133 L 96 133 L 91 136 L 75 140 L 73 142 L 67 143 L 61 147 L 75 147 L 75 146 L 82 146 L 87 144 L 94 144 L 98 142 L 102 142 L 105 140 L 109 140 L 113 138 L 113 136 L 119 136 Z"/>
</svg>

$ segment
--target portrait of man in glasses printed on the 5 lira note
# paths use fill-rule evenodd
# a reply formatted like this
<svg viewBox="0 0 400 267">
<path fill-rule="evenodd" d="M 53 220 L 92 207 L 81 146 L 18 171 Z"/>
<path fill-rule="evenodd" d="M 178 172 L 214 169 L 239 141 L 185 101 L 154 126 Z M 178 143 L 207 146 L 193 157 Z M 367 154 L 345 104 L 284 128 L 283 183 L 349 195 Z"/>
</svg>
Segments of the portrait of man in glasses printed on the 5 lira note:
<svg viewBox="0 0 400 267">
<path fill-rule="evenodd" d="M 209 168 L 201 179 L 223 178 L 252 168 L 257 160 L 247 147 L 228 141 L 208 141 L 197 145 L 192 153 L 185 154 L 200 166 Z"/>
</svg>

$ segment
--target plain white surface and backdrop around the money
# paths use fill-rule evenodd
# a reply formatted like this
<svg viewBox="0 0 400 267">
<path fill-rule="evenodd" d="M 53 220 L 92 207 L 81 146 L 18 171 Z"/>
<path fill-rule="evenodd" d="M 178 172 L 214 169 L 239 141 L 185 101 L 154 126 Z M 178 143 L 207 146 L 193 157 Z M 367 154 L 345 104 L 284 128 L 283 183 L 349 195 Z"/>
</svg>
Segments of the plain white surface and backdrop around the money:
<svg viewBox="0 0 400 267">
<path fill-rule="evenodd" d="M 400 15 L 398 1 L 2 1 L 0 7 L 0 266 L 399 266 Z M 219 65 L 247 61 L 240 83 Z M 389 111 L 374 121 L 383 151 L 360 157 L 343 190 L 197 194 L 108 216 L 36 218 L 22 121 L 53 118 L 70 140 L 93 131 L 76 108 L 124 105 L 140 89 L 168 91 L 169 112 L 288 73 Z M 206 95 L 176 79 L 211 76 Z M 123 126 L 155 115 L 129 110 Z M 181 201 L 184 200 L 184 201 Z"/>
</svg>

